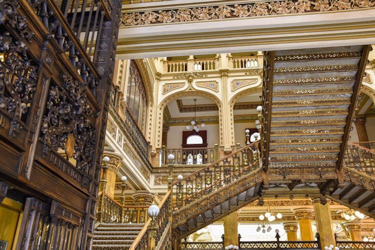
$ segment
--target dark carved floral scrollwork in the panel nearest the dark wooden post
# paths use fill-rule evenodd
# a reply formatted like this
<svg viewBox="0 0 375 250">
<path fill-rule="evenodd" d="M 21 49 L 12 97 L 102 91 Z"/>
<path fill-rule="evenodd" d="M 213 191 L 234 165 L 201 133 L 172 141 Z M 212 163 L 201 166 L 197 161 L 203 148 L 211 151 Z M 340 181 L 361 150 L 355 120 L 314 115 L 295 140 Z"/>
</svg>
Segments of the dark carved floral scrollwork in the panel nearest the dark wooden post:
<svg viewBox="0 0 375 250">
<path fill-rule="evenodd" d="M 66 150 L 73 145 L 76 167 L 89 172 L 95 150 L 95 132 L 90 122 L 93 110 L 85 93 L 85 84 L 63 75 L 64 89 L 55 84 L 49 88 L 45 114 L 41 123 L 44 140 L 42 156 L 48 151 Z"/>
</svg>

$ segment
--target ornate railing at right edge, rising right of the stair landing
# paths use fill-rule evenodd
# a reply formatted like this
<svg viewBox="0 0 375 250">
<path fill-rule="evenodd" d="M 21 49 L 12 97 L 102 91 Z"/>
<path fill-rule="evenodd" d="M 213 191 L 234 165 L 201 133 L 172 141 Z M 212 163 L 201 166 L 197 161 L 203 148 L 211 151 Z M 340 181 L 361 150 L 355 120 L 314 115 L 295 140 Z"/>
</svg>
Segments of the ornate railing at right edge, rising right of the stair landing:
<svg viewBox="0 0 375 250">
<path fill-rule="evenodd" d="M 375 170 L 375 150 L 361 146 L 360 143 L 347 143 L 343 166 L 372 175 Z M 368 144 L 368 146 L 370 145 Z"/>
</svg>

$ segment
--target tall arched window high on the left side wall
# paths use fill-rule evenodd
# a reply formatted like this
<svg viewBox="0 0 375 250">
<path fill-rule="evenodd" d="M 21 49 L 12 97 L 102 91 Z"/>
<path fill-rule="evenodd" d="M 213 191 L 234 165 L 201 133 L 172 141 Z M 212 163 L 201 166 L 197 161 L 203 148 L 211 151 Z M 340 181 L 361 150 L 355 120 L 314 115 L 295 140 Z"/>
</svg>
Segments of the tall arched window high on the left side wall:
<svg viewBox="0 0 375 250">
<path fill-rule="evenodd" d="M 142 77 L 134 60 L 130 60 L 130 73 L 127 80 L 126 103 L 130 114 L 141 130 L 144 130 L 147 112 L 147 96 Z"/>
</svg>

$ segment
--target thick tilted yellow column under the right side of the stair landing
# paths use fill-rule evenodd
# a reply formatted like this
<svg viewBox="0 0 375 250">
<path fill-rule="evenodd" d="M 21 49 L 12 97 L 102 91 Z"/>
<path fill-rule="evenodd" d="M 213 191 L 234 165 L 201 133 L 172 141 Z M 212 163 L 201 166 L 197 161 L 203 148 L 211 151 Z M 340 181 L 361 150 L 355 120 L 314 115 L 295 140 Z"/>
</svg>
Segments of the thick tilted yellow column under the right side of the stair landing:
<svg viewBox="0 0 375 250">
<path fill-rule="evenodd" d="M 324 205 L 322 203 L 324 203 Z M 334 231 L 332 228 L 332 218 L 329 210 L 329 199 L 314 198 L 312 204 L 315 213 L 316 229 L 320 236 L 320 245 L 323 249 L 324 246 L 330 244 L 335 245 Z"/>
</svg>

